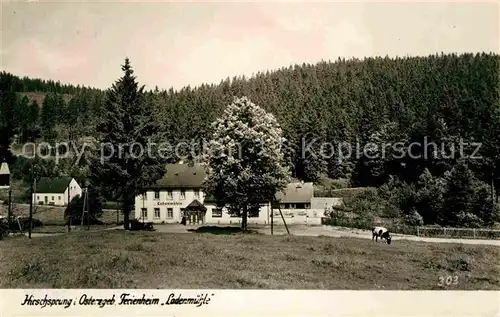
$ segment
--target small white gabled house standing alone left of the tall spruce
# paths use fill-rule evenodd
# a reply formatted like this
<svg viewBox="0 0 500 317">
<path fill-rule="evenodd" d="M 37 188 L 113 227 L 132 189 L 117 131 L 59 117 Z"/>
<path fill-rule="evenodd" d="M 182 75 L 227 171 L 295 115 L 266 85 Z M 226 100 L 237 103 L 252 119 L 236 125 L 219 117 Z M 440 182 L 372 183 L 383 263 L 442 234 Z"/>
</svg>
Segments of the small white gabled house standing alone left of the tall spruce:
<svg viewBox="0 0 500 317">
<path fill-rule="evenodd" d="M 72 177 L 42 178 L 36 183 L 33 203 L 38 205 L 67 206 L 82 188 Z"/>
</svg>

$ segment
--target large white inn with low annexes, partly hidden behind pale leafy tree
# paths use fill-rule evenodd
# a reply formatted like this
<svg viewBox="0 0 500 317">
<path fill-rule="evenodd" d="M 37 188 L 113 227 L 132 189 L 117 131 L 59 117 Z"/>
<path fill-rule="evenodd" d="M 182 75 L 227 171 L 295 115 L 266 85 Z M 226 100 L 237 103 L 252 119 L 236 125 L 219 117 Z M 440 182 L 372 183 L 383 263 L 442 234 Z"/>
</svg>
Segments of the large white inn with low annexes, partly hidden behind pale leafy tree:
<svg viewBox="0 0 500 317">
<path fill-rule="evenodd" d="M 202 183 L 206 172 L 203 166 L 169 164 L 167 172 L 155 186 L 147 188 L 144 195 L 135 198 L 135 218 L 153 223 L 180 223 L 183 214 L 191 208 L 203 209 L 198 215 L 189 216 L 191 223 L 240 224 L 241 217 L 231 216 L 226 208 L 219 208 L 210 197 L 205 197 Z M 341 203 L 338 198 L 313 197 L 313 184 L 291 183 L 276 197 L 287 224 L 321 224 L 327 206 Z M 314 206 L 314 208 L 311 208 Z M 277 206 L 276 206 L 277 207 Z M 258 217 L 249 217 L 248 224 L 269 224 L 271 205 L 263 204 Z M 282 225 L 279 209 L 274 209 L 274 223 Z"/>
</svg>

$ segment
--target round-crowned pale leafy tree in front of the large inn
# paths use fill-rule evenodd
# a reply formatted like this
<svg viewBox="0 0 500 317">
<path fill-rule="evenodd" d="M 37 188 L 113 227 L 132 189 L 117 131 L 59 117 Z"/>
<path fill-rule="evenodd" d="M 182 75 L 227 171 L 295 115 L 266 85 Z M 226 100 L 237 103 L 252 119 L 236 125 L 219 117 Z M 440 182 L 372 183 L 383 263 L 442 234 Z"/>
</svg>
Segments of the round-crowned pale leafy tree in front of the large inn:
<svg viewBox="0 0 500 317">
<path fill-rule="evenodd" d="M 235 98 L 212 128 L 203 156 L 204 190 L 241 217 L 246 230 L 248 216 L 257 216 L 260 206 L 272 202 L 288 182 L 282 131 L 272 114 L 247 97 Z"/>
</svg>

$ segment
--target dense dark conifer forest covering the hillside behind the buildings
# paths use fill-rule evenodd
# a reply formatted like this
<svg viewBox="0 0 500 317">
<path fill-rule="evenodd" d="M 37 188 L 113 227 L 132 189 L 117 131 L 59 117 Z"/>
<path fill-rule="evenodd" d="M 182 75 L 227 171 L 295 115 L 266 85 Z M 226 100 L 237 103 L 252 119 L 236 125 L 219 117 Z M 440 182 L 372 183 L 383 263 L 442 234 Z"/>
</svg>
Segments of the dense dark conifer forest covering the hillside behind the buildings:
<svg viewBox="0 0 500 317">
<path fill-rule="evenodd" d="M 342 59 L 228 78 L 218 85 L 156 89 L 147 92 L 147 99 L 157 109 L 167 139 L 175 144 L 208 137 L 210 123 L 233 97 L 248 96 L 278 119 L 293 176 L 304 181 L 327 176 L 347 179 L 353 187 L 380 187 L 395 180 L 417 184 L 422 175 L 444 177 L 465 164 L 463 173 L 470 170 L 491 193 L 500 186 L 499 69 L 500 56 L 486 53 Z M 81 142 L 93 135 L 103 111 L 105 94 L 97 89 L 5 72 L 1 86 L 0 156 L 8 156 L 15 134 L 21 143 Z M 38 104 L 23 97 L 27 92 L 46 97 Z M 65 101 L 63 94 L 72 97 Z M 344 154 L 339 155 L 342 142 Z M 420 146 L 412 146 L 412 157 L 387 154 L 394 149 L 385 157 L 356 155 L 356 149 L 369 142 L 401 142 L 406 150 L 412 143 Z M 425 150 L 424 142 L 435 142 L 437 151 Z M 460 142 L 469 144 L 461 150 Z M 426 157 L 416 157 L 424 152 Z M 472 154 L 481 158 L 464 159 Z M 85 162 L 80 164 L 84 168 Z"/>
</svg>

